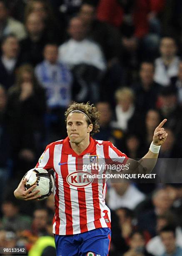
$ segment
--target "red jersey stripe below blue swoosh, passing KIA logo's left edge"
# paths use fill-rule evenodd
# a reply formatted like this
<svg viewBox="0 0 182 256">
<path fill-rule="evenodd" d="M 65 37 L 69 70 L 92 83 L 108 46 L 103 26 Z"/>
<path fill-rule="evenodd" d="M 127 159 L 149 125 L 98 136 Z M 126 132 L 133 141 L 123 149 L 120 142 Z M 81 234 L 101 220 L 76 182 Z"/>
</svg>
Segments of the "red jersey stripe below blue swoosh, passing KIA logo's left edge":
<svg viewBox="0 0 182 256">
<path fill-rule="evenodd" d="M 67 163 L 68 155 L 61 154 L 61 163 Z M 71 195 L 70 195 L 70 186 L 66 181 L 68 176 L 67 164 L 63 164 L 61 167 L 61 174 L 63 177 L 63 187 L 64 187 L 64 197 L 65 197 L 65 215 L 66 215 L 66 235 L 73 234 L 72 227 L 72 206 L 71 206 Z"/>
</svg>

